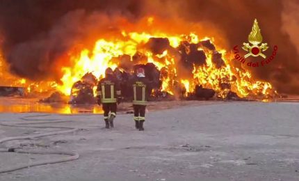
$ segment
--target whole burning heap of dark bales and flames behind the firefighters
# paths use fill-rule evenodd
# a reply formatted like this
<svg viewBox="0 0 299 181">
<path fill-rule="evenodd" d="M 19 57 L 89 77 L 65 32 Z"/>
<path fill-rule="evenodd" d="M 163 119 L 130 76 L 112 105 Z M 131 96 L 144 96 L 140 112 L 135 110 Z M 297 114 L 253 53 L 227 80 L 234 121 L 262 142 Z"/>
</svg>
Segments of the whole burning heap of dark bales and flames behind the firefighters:
<svg viewBox="0 0 299 181">
<path fill-rule="evenodd" d="M 145 69 L 145 76 L 152 81 L 155 100 L 185 99 L 191 95 L 200 100 L 276 94 L 269 82 L 256 81 L 248 70 L 232 66 L 229 54 L 213 38 L 200 40 L 195 33 L 149 34 L 124 29 L 95 40 L 92 50 L 70 49 L 63 61 L 64 58 L 67 63 L 57 63 L 59 80 L 49 81 L 48 85 L 70 95 L 72 104 L 95 103 L 95 86 L 108 67 L 120 81 L 124 100 L 131 97 L 128 82 L 139 67 Z M 30 84 L 34 90 L 47 90 L 40 84 L 34 85 Z M 51 100 L 56 99 L 48 101 Z"/>
</svg>

